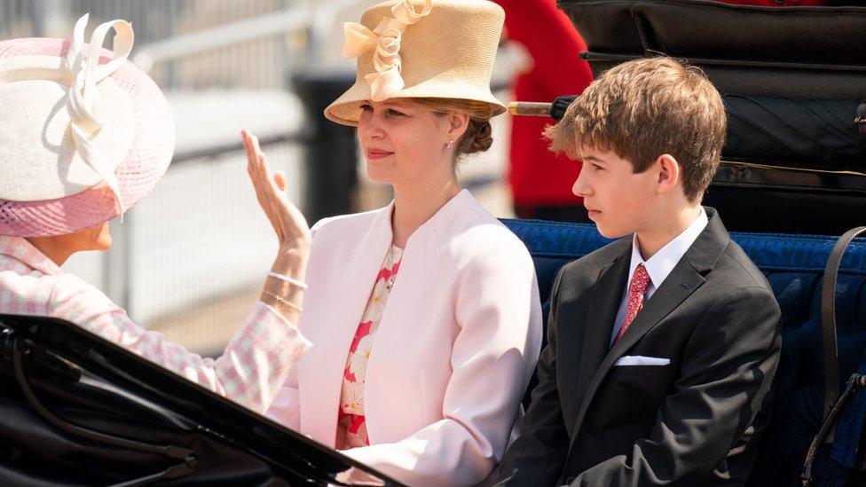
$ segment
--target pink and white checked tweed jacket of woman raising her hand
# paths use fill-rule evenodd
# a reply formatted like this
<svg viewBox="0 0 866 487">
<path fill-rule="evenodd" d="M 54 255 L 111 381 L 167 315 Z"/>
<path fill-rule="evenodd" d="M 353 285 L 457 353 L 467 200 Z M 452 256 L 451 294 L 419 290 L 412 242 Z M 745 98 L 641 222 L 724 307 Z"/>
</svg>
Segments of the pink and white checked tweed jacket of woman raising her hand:
<svg viewBox="0 0 866 487">
<path fill-rule="evenodd" d="M 259 302 L 222 357 L 202 358 L 133 323 L 105 294 L 64 273 L 27 240 L 4 236 L 0 313 L 66 319 L 259 413 L 311 347 L 296 326 Z"/>
</svg>

